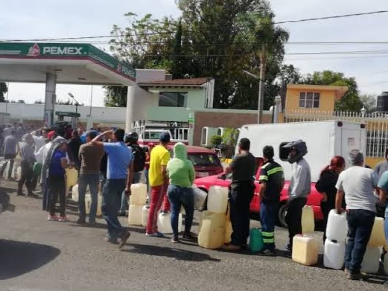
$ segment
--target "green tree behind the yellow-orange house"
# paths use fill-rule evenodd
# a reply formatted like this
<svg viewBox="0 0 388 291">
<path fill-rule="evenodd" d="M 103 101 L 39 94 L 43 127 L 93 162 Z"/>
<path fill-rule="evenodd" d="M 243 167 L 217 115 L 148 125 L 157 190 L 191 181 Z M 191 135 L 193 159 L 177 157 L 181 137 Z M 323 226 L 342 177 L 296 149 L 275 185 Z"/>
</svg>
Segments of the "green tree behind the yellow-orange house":
<svg viewBox="0 0 388 291">
<path fill-rule="evenodd" d="M 325 70 L 307 74 L 302 83 L 348 87 L 348 92 L 335 103 L 335 110 L 337 111 L 359 111 L 363 106 L 354 77 L 346 78 L 343 73 Z"/>
</svg>

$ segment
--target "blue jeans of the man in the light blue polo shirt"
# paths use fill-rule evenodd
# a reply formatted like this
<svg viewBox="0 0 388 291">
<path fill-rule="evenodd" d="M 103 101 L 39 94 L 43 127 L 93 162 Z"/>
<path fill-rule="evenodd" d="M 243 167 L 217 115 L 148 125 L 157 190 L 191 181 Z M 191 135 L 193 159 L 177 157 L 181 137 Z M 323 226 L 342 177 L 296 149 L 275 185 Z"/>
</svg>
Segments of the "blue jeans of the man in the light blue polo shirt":
<svg viewBox="0 0 388 291">
<path fill-rule="evenodd" d="M 126 182 L 126 179 L 107 179 L 102 191 L 102 215 L 108 225 L 107 237 L 113 242 L 117 241 L 124 230 L 118 221 L 117 213 Z"/>
</svg>

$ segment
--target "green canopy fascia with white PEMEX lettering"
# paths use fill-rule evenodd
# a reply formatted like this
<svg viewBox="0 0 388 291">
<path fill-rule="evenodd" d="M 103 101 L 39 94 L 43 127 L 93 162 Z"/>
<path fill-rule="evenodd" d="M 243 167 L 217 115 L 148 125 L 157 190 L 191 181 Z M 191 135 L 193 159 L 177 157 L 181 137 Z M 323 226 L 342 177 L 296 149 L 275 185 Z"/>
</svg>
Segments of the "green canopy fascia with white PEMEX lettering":
<svg viewBox="0 0 388 291">
<path fill-rule="evenodd" d="M 130 65 L 89 44 L 0 42 L 0 58 L 3 57 L 91 60 L 129 79 L 136 78 L 136 70 Z"/>
</svg>

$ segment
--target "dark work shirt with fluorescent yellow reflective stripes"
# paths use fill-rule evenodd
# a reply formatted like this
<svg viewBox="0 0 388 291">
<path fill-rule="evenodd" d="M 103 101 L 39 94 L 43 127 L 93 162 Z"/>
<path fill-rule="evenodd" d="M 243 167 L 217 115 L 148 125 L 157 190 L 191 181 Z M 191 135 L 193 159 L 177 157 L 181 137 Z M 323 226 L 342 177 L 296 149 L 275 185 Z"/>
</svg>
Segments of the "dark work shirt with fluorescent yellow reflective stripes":
<svg viewBox="0 0 388 291">
<path fill-rule="evenodd" d="M 279 202 L 280 192 L 284 185 L 283 168 L 274 160 L 268 161 L 261 167 L 259 183 L 265 183 L 266 188 L 263 196 L 263 202 Z"/>
</svg>

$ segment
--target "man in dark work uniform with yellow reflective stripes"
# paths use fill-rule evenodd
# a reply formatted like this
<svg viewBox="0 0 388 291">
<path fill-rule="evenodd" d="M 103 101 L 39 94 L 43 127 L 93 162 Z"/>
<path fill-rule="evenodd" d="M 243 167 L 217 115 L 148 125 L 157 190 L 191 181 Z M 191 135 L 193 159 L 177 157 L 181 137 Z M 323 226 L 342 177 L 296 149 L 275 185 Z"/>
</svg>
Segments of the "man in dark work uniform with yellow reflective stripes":
<svg viewBox="0 0 388 291">
<path fill-rule="evenodd" d="M 274 161 L 274 148 L 264 146 L 265 164 L 260 170 L 260 222 L 265 248 L 261 255 L 275 255 L 275 223 L 280 203 L 280 192 L 284 186 L 283 168 Z"/>
</svg>

